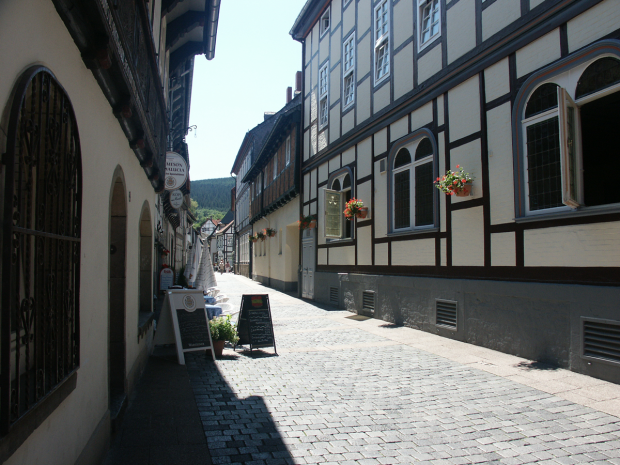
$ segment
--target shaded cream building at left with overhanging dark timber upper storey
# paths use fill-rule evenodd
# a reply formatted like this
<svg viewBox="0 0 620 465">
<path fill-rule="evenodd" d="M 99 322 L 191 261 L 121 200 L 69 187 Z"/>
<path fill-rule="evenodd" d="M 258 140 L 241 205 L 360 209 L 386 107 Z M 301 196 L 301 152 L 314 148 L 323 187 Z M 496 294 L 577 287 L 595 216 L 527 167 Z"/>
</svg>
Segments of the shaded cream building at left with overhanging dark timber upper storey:
<svg viewBox="0 0 620 465">
<path fill-rule="evenodd" d="M 157 193 L 218 12 L 0 2 L 2 463 L 103 460 L 153 347 L 154 236 L 184 218 Z"/>
</svg>

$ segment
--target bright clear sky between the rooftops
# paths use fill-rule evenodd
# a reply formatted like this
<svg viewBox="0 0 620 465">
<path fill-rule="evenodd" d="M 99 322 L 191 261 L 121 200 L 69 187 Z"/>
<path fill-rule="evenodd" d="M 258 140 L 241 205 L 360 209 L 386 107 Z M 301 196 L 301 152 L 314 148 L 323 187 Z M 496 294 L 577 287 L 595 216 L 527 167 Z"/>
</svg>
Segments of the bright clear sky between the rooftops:
<svg viewBox="0 0 620 465">
<path fill-rule="evenodd" d="M 230 176 L 245 133 L 286 103 L 301 71 L 289 31 L 306 0 L 223 0 L 215 58 L 196 56 L 187 137 L 190 178 Z"/>
</svg>

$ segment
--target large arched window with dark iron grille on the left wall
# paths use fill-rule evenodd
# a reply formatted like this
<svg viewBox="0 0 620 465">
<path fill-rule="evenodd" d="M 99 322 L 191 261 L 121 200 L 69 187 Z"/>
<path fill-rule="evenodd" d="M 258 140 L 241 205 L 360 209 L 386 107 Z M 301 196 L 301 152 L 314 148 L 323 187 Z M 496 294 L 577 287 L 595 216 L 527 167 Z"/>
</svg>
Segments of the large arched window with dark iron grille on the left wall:
<svg viewBox="0 0 620 465">
<path fill-rule="evenodd" d="M 33 67 L 10 110 L 4 184 L 2 389 L 7 432 L 79 366 L 82 162 L 71 101 Z"/>
</svg>

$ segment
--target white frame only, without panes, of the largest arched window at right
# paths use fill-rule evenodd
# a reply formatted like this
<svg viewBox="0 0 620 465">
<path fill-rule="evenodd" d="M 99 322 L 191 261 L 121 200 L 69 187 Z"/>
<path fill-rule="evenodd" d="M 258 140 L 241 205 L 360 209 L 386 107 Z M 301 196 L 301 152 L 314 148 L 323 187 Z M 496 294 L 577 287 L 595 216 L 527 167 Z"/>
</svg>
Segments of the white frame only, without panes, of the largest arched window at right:
<svg viewBox="0 0 620 465">
<path fill-rule="evenodd" d="M 593 102 L 600 98 L 606 97 L 607 95 L 613 94 L 615 92 L 620 91 L 620 84 L 616 84 L 605 89 L 599 90 L 593 94 L 585 95 L 577 100 L 575 100 L 575 91 L 577 89 L 577 83 L 581 78 L 581 75 L 585 72 L 585 70 L 593 64 L 595 61 L 598 61 L 602 58 L 614 58 L 616 60 L 620 59 L 617 55 L 612 54 L 601 54 L 596 57 L 593 57 L 573 68 L 569 68 L 562 73 L 556 74 L 549 79 L 544 81 L 540 81 L 536 83 L 536 87 L 534 87 L 527 95 L 525 100 L 525 104 L 523 105 L 521 114 L 519 115 L 519 130 L 521 131 L 522 137 L 522 153 L 523 153 L 523 198 L 525 205 L 525 216 L 535 217 L 537 215 L 549 215 L 553 213 L 567 213 L 571 210 L 587 210 L 587 209 L 601 209 L 601 207 L 620 207 L 620 203 L 615 204 L 605 204 L 598 206 L 586 206 L 584 205 L 584 181 L 583 181 L 583 173 L 582 173 L 582 165 L 583 165 L 583 151 L 582 151 L 582 135 L 581 135 L 581 117 L 579 112 L 579 107 L 585 105 L 586 103 Z M 525 118 L 525 110 L 527 108 L 527 103 L 529 99 L 532 97 L 536 90 L 545 85 L 545 84 L 556 84 L 558 86 L 558 106 L 554 109 L 547 110 L 543 113 L 533 115 L 529 118 Z M 570 103 L 568 103 L 570 102 Z M 567 109 L 572 106 L 577 111 L 575 111 L 575 128 L 574 128 L 574 150 L 575 150 L 575 160 L 576 166 L 574 167 L 576 172 L 578 173 L 575 179 L 575 192 L 570 192 L 569 186 L 569 162 L 568 162 L 568 154 L 567 154 L 567 140 L 566 140 L 566 113 Z M 530 210 L 530 201 L 529 201 L 529 178 L 528 178 L 528 166 L 527 166 L 527 127 L 533 124 L 539 123 L 541 121 L 551 119 L 554 117 L 558 117 L 559 124 L 559 140 L 560 140 L 560 166 L 561 166 L 561 175 L 562 175 L 562 203 L 563 206 L 552 207 L 552 208 L 541 208 L 538 210 Z"/>
</svg>

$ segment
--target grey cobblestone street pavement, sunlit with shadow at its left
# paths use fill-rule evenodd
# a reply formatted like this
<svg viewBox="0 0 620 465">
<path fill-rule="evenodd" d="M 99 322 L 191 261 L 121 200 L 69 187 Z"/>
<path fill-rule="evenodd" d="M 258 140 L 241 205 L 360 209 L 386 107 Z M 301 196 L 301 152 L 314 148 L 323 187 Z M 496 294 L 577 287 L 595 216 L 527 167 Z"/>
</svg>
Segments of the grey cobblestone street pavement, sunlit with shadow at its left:
<svg viewBox="0 0 620 465">
<path fill-rule="evenodd" d="M 235 308 L 269 294 L 279 355 L 187 358 L 214 464 L 620 464 L 616 416 L 369 332 L 349 312 L 217 279 Z"/>
</svg>

